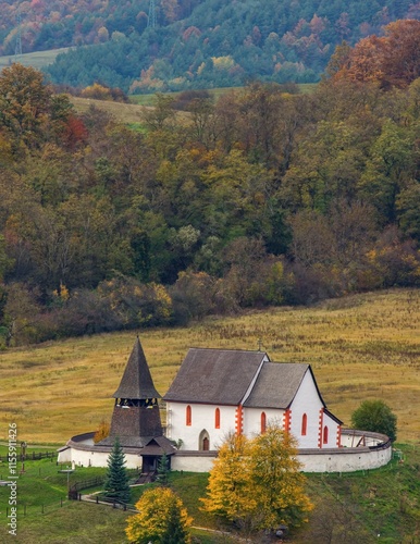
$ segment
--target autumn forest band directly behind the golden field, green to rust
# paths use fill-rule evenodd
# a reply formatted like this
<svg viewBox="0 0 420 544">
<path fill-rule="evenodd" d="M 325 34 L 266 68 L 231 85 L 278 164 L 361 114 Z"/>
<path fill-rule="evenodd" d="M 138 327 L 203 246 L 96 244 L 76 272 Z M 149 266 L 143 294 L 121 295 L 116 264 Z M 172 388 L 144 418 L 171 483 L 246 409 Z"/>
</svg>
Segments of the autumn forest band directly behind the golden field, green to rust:
<svg viewBox="0 0 420 544">
<path fill-rule="evenodd" d="M 140 132 L 5 69 L 2 344 L 420 285 L 419 41 L 341 46 L 310 95 L 158 94 Z"/>
</svg>

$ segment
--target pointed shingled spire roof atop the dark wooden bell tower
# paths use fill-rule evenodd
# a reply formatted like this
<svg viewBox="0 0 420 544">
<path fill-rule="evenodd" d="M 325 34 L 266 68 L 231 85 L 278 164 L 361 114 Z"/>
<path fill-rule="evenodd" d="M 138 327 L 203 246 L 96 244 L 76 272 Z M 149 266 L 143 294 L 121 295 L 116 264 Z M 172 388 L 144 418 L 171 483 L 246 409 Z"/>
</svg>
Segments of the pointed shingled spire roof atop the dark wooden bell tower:
<svg viewBox="0 0 420 544">
<path fill-rule="evenodd" d="M 156 391 L 150 375 L 149 367 L 138 336 L 134 343 L 132 355 L 128 358 L 127 366 L 120 387 L 112 395 L 114 398 L 147 399 L 160 398 Z"/>
</svg>

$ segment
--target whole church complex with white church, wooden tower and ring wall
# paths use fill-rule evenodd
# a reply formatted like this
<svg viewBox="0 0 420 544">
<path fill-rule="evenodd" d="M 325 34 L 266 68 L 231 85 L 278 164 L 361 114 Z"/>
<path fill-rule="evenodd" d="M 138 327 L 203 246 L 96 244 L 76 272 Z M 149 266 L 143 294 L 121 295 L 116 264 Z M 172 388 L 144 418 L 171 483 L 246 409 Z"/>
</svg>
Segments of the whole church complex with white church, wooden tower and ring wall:
<svg viewBox="0 0 420 544">
<path fill-rule="evenodd" d="M 127 466 L 143 472 L 155 470 L 163 454 L 173 470 L 208 472 L 228 434 L 252 437 L 269 423 L 295 436 L 304 471 L 378 468 L 392 456 L 387 436 L 343 428 L 310 364 L 272 362 L 263 351 L 190 348 L 162 404 L 137 337 L 113 397 L 109 437 L 95 443 L 95 432 L 73 436 L 59 462 L 107 466 L 119 436 Z"/>
</svg>

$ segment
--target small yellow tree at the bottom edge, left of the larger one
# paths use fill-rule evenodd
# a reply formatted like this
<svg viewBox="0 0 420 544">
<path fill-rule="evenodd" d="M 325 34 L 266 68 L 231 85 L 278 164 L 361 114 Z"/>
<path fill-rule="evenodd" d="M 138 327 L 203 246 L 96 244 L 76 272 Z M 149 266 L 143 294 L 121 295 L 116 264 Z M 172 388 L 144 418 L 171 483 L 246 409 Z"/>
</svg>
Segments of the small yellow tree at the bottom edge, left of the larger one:
<svg viewBox="0 0 420 544">
<path fill-rule="evenodd" d="M 133 544 L 189 544 L 188 517 L 181 498 L 169 487 L 146 491 L 128 518 L 125 533 Z"/>
</svg>

